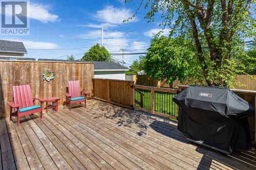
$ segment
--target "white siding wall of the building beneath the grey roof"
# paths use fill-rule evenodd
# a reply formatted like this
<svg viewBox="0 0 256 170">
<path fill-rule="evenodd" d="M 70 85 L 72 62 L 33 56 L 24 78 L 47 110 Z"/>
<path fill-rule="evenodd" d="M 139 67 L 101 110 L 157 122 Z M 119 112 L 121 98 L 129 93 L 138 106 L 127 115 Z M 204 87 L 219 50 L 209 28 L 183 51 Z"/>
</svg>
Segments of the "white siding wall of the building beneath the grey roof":
<svg viewBox="0 0 256 170">
<path fill-rule="evenodd" d="M 94 71 L 94 78 L 125 80 L 124 71 Z"/>
</svg>

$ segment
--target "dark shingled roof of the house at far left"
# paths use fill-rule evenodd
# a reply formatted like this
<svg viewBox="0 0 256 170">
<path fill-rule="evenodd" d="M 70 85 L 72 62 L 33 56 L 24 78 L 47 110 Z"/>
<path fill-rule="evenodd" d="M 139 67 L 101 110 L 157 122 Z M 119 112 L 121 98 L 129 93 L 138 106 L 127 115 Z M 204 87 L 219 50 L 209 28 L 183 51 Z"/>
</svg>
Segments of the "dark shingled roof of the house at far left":
<svg viewBox="0 0 256 170">
<path fill-rule="evenodd" d="M 0 52 L 27 53 L 23 42 L 0 40 Z"/>
</svg>

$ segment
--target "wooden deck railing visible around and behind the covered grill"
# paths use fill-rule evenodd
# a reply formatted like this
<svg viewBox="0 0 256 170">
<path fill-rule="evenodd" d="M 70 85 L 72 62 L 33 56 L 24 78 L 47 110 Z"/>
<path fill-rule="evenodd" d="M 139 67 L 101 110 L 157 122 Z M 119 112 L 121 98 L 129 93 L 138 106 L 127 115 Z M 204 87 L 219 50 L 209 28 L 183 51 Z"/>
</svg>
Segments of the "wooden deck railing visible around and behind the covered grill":
<svg viewBox="0 0 256 170">
<path fill-rule="evenodd" d="M 187 88 L 186 85 L 179 85 L 179 91 L 182 91 L 183 89 Z M 234 93 L 236 93 L 240 98 L 246 100 L 248 103 L 250 103 L 254 109 L 256 106 L 256 91 L 253 90 L 241 90 L 241 89 L 231 89 Z M 256 109 L 254 113 L 254 117 L 249 117 L 249 126 L 250 126 L 250 132 L 251 132 L 251 139 L 254 141 L 254 145 L 256 145 Z"/>
</svg>

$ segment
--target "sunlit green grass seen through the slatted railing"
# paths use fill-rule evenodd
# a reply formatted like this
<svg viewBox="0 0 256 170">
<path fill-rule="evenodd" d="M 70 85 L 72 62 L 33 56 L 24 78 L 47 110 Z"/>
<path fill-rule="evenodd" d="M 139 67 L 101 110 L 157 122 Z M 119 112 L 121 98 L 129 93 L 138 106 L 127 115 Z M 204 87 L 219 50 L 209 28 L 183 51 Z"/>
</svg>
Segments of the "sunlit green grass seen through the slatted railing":
<svg viewBox="0 0 256 170">
<path fill-rule="evenodd" d="M 175 93 L 155 91 L 155 111 L 177 116 L 177 105 L 173 102 Z M 142 102 L 141 102 L 142 101 Z M 136 90 L 135 91 L 135 106 L 151 110 L 151 91 Z"/>
</svg>

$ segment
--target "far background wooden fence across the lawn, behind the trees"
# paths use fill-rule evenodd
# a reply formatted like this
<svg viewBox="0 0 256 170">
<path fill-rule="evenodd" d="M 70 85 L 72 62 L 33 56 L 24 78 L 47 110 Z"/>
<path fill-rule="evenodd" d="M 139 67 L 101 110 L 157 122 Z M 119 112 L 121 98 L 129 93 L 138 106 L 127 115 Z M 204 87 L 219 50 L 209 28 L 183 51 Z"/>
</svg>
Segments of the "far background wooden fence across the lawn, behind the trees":
<svg viewBox="0 0 256 170">
<path fill-rule="evenodd" d="M 154 87 L 166 87 L 169 88 L 169 84 L 166 81 L 157 81 L 156 79 L 150 78 L 147 75 L 137 75 L 136 78 L 134 77 L 133 80 L 136 82 L 137 85 L 143 86 L 154 86 Z M 256 75 L 237 75 L 238 82 L 244 84 L 244 86 L 235 85 L 234 88 L 242 89 L 242 90 L 256 90 Z M 173 82 L 172 88 L 179 88 L 179 85 L 190 85 L 189 81 L 184 81 L 180 83 L 180 81 L 175 80 Z"/>
</svg>

